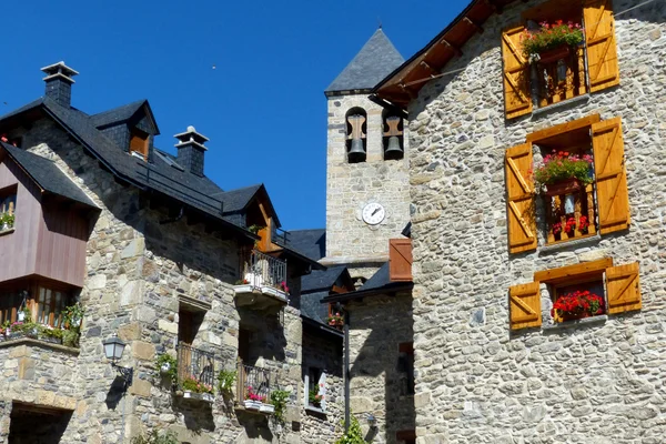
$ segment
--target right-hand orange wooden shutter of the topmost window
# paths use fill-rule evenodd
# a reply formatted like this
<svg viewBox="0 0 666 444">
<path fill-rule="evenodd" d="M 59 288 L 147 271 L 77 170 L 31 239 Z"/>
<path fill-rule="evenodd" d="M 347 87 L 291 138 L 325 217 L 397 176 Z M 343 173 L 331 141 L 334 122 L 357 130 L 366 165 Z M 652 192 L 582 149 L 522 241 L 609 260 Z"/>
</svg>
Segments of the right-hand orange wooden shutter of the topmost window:
<svg viewBox="0 0 666 444">
<path fill-rule="evenodd" d="M 587 40 L 587 65 L 592 92 L 619 83 L 613 0 L 584 0 L 583 20 Z"/>
</svg>

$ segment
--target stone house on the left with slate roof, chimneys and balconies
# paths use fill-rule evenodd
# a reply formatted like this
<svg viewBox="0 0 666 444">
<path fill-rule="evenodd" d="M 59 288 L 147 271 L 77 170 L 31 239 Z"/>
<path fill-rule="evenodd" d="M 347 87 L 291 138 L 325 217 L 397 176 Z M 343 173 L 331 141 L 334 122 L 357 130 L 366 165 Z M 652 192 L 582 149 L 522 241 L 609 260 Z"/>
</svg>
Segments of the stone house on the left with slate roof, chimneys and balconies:
<svg viewBox="0 0 666 444">
<path fill-rule="evenodd" d="M 342 340 L 300 311 L 301 278 L 324 268 L 263 185 L 223 191 L 193 127 L 171 155 L 148 101 L 87 114 L 78 73 L 43 71 L 46 95 L 0 118 L 0 443 L 329 441 Z M 331 395 L 312 405 L 312 389 Z"/>
</svg>

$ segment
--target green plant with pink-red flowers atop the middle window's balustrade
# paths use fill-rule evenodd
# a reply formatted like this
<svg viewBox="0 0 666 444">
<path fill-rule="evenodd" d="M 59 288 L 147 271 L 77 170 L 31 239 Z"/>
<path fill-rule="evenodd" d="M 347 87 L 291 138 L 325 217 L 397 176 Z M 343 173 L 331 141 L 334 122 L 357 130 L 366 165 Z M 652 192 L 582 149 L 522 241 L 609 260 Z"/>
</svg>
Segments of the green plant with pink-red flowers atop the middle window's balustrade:
<svg viewBox="0 0 666 444">
<path fill-rule="evenodd" d="M 536 189 L 549 196 L 575 193 L 592 183 L 592 155 L 553 150 L 534 171 Z"/>
</svg>

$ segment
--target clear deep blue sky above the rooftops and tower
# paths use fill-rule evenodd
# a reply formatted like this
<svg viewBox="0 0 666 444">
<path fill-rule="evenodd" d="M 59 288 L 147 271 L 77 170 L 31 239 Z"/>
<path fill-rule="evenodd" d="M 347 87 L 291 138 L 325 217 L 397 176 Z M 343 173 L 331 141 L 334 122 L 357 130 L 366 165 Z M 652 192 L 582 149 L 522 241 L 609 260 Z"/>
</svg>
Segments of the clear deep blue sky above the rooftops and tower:
<svg viewBox="0 0 666 444">
<path fill-rule="evenodd" d="M 3 3 L 1 114 L 42 95 L 39 69 L 64 60 L 80 72 L 74 107 L 148 99 L 158 148 L 174 152 L 193 124 L 211 139 L 208 176 L 224 190 L 265 183 L 284 228 L 304 229 L 325 225 L 324 89 L 380 19 L 407 59 L 468 0 Z"/>
</svg>

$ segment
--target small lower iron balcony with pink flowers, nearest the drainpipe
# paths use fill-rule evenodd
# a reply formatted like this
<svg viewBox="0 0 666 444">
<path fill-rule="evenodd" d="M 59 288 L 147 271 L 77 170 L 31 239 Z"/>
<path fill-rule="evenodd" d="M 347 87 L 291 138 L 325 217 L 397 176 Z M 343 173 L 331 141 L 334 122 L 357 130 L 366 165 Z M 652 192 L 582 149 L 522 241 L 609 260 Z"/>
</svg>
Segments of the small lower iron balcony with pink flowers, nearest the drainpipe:
<svg viewBox="0 0 666 444">
<path fill-rule="evenodd" d="M 253 367 L 239 361 L 236 380 L 236 403 L 241 410 L 251 413 L 272 414 L 271 390 L 275 375 L 269 369 Z"/>
</svg>

